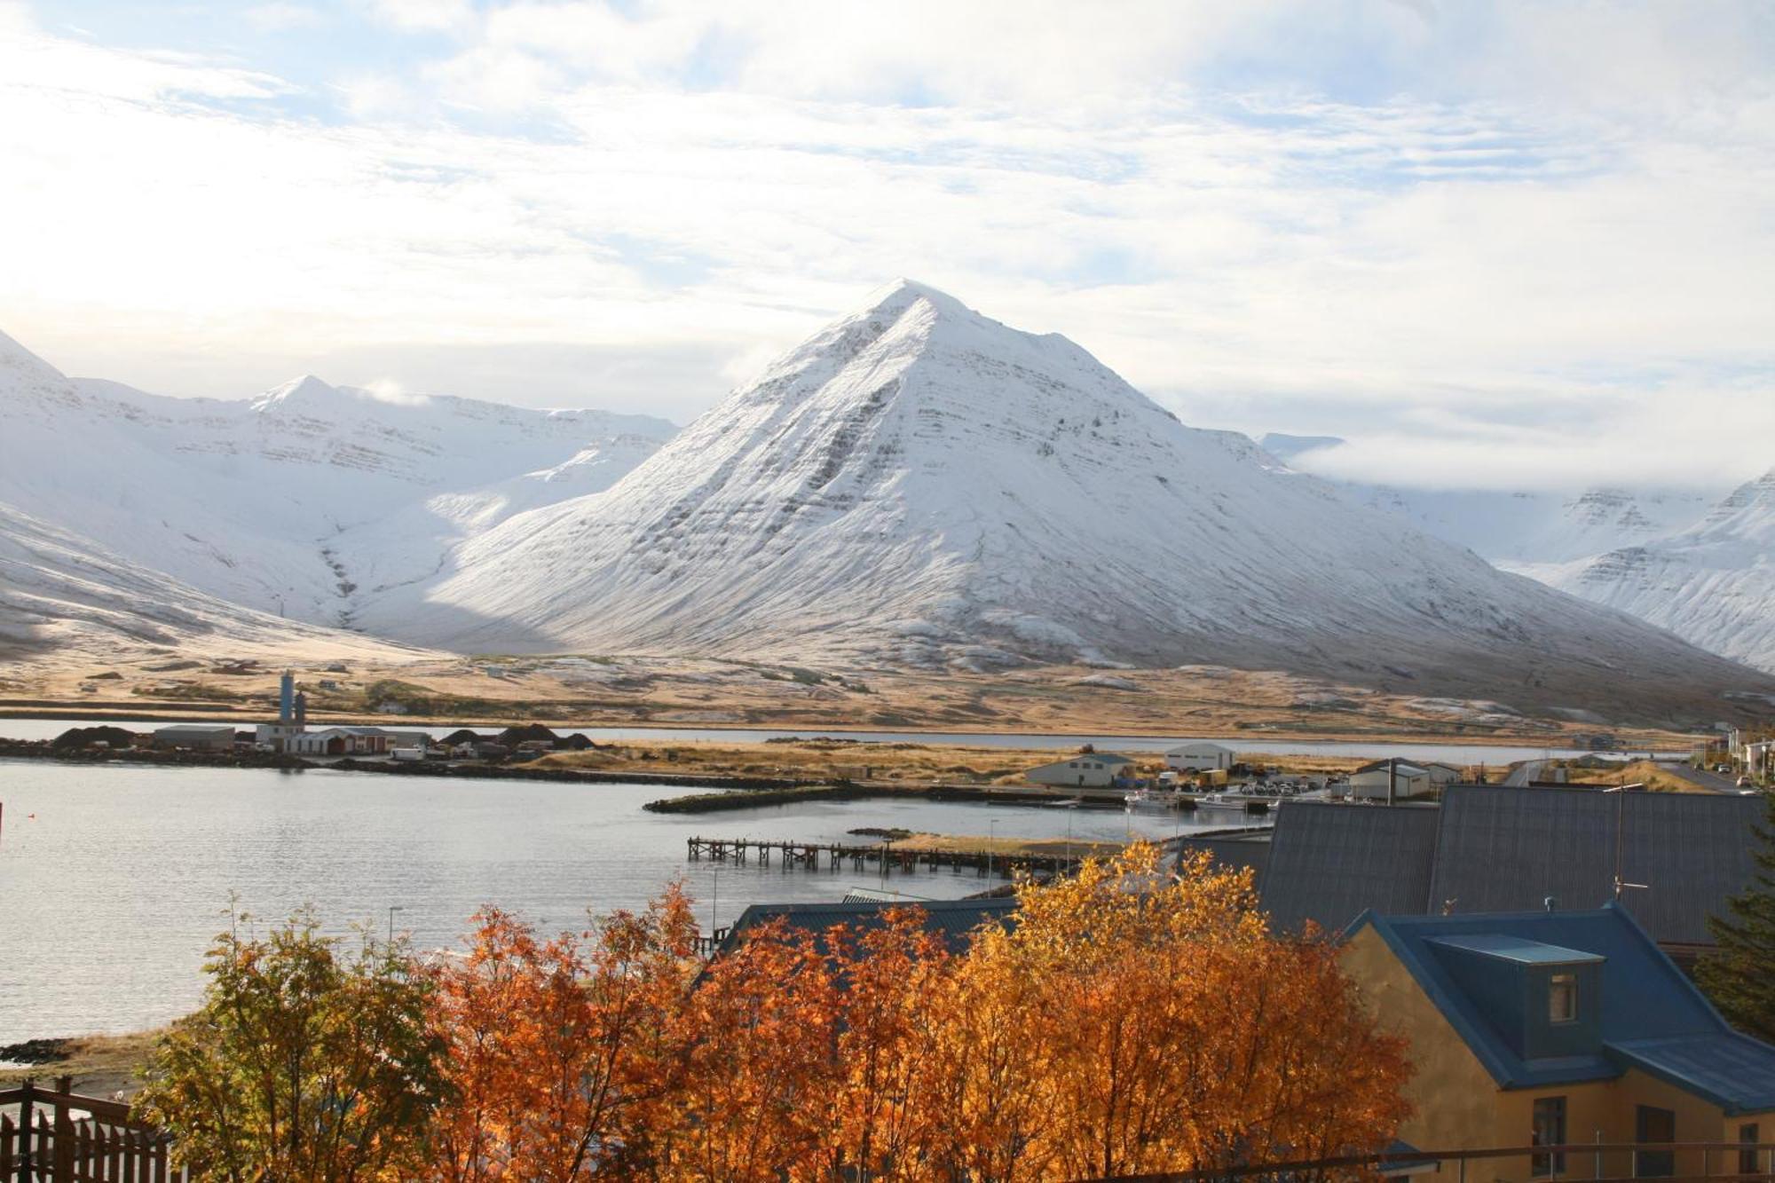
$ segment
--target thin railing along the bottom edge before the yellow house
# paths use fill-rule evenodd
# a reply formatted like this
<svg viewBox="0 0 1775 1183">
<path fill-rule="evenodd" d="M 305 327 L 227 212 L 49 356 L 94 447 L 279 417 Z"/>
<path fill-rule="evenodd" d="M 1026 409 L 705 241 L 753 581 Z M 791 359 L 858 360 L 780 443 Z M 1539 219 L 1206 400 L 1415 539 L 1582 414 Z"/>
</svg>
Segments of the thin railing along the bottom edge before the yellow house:
<svg viewBox="0 0 1775 1183">
<path fill-rule="evenodd" d="M 1740 1171 L 1745 1155 L 1757 1171 Z M 1219 1183 L 1225 1179 L 1274 1179 L 1298 1183 L 1301 1179 L 1374 1178 L 1377 1174 L 1406 1174 L 1422 1165 L 1422 1172 L 1441 1178 L 1454 1176 L 1466 1183 L 1468 1163 L 1498 1158 L 1519 1158 L 1516 1172 L 1491 1172 L 1489 1179 L 1573 1179 L 1583 1183 L 1628 1183 L 1631 1179 L 1661 1179 L 1661 1183 L 1745 1183 L 1775 1181 L 1775 1142 L 1574 1142 L 1566 1146 L 1511 1146 L 1493 1149 L 1409 1149 L 1384 1155 L 1344 1155 L 1335 1158 L 1301 1158 L 1292 1162 L 1239 1163 L 1203 1171 L 1173 1171 L 1161 1174 L 1122 1174 L 1099 1183 Z M 1605 1172 L 1605 1162 L 1626 1163 L 1628 1174 Z M 1653 1169 L 1649 1162 L 1658 1162 Z M 1679 1174 L 1676 1163 L 1699 1165 L 1699 1174 Z M 1715 1165 L 1731 1167 L 1715 1171 Z M 1557 1169 L 1555 1169 L 1557 1167 Z M 1409 1174 L 1422 1174 L 1409 1171 Z M 1479 1176 L 1475 1176 L 1479 1178 Z"/>
</svg>

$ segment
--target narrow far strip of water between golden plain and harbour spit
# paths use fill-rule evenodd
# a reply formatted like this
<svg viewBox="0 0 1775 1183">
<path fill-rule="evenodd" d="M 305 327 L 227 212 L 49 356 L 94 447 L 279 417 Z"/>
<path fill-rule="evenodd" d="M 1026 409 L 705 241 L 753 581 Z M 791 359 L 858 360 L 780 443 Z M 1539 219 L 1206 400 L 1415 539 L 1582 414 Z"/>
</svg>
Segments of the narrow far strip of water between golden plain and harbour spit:
<svg viewBox="0 0 1775 1183">
<path fill-rule="evenodd" d="M 270 716 L 266 716 L 270 718 Z M 193 718 L 193 723 L 215 723 L 213 718 Z M 5 739 L 55 739 L 69 726 L 105 726 L 106 723 L 80 719 L 0 719 L 0 737 Z M 117 719 L 108 726 L 122 726 L 135 732 L 162 726 L 162 721 Z M 245 730 L 245 725 L 236 723 Z M 320 723 L 316 726 L 327 726 Z M 433 737 L 447 735 L 454 726 L 419 726 L 401 723 L 398 716 L 383 721 L 383 726 L 398 726 L 415 732 L 430 732 Z M 483 732 L 499 730 L 483 726 Z M 1186 739 L 1200 739 L 1179 732 L 1177 735 L 1058 735 L 1044 732 L 822 732 L 804 728 L 799 732 L 772 732 L 760 728 L 708 728 L 708 726 L 572 726 L 557 728 L 563 735 L 580 734 L 596 741 L 653 739 L 673 742 L 760 742 L 765 739 L 783 739 L 793 735 L 840 735 L 861 742 L 884 744 L 966 744 L 971 748 L 1077 748 L 1093 744 L 1099 751 L 1164 751 Z M 1550 760 L 1557 757 L 1585 755 L 1587 748 L 1526 748 L 1526 746 L 1491 746 L 1491 744 L 1384 744 L 1361 741 L 1303 741 L 1303 739 L 1251 739 L 1246 735 L 1219 737 L 1228 748 L 1239 751 L 1257 751 L 1264 755 L 1331 755 L 1363 757 L 1370 760 L 1443 760 L 1448 764 L 1511 764 L 1514 760 Z M 1686 757 L 1688 751 L 1660 753 Z"/>
</svg>

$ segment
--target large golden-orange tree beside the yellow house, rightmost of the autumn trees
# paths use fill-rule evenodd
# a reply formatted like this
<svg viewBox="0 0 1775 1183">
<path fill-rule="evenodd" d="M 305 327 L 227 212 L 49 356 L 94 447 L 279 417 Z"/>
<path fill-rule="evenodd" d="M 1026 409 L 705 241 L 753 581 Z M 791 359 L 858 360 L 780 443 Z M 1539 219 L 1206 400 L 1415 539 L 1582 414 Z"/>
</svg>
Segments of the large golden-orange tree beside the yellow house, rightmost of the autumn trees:
<svg viewBox="0 0 1775 1183">
<path fill-rule="evenodd" d="M 985 933 L 966 966 L 989 982 L 973 1005 L 1026 1055 L 985 1082 L 992 1105 L 960 1098 L 964 1116 L 999 1114 L 978 1178 L 1361 1153 L 1406 1117 L 1402 1043 L 1374 1028 L 1329 947 L 1269 933 L 1248 872 L 1200 856 L 1173 874 L 1136 846 L 1019 897 L 1017 925 Z"/>
</svg>

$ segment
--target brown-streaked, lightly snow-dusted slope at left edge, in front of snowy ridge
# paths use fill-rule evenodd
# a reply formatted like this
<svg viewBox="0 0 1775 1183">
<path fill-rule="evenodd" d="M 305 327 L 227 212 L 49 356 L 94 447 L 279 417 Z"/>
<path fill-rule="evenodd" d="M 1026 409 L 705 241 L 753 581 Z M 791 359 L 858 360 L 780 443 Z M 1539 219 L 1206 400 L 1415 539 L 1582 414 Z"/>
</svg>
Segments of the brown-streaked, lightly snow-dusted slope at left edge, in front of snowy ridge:
<svg viewBox="0 0 1775 1183">
<path fill-rule="evenodd" d="M 0 661 L 60 655 L 91 666 L 154 650 L 234 659 L 419 655 L 218 600 L 0 504 Z"/>
</svg>

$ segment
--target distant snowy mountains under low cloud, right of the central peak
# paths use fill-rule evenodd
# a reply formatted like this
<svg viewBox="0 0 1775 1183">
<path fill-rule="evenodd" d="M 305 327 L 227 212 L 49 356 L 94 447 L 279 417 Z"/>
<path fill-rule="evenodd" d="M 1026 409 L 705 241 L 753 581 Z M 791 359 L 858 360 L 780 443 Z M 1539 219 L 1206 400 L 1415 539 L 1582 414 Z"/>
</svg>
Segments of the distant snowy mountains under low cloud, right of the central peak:
<svg viewBox="0 0 1775 1183">
<path fill-rule="evenodd" d="M 1296 462 L 1331 435 L 1264 437 Z M 1775 469 L 1731 492 L 1436 492 L 1335 483 L 1493 565 L 1775 671 Z"/>
</svg>

